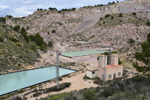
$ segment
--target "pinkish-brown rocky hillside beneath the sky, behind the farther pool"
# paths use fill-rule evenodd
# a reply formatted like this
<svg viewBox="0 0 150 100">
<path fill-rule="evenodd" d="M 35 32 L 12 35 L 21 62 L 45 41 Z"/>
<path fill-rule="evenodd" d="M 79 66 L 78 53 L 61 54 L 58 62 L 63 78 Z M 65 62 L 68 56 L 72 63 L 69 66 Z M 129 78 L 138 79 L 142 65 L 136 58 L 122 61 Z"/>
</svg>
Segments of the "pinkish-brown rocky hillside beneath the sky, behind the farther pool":
<svg viewBox="0 0 150 100">
<path fill-rule="evenodd" d="M 110 14 L 109 17 L 106 18 L 106 14 Z M 130 0 L 61 13 L 36 11 L 23 18 L 7 18 L 7 24 L 23 26 L 29 34 L 40 33 L 46 42 L 53 41 L 55 48 L 65 47 L 64 50 L 70 50 L 110 44 L 114 48 L 121 48 L 127 45 L 130 38 L 144 41 L 150 32 L 150 26 L 146 25 L 148 20 L 150 2 Z"/>
</svg>

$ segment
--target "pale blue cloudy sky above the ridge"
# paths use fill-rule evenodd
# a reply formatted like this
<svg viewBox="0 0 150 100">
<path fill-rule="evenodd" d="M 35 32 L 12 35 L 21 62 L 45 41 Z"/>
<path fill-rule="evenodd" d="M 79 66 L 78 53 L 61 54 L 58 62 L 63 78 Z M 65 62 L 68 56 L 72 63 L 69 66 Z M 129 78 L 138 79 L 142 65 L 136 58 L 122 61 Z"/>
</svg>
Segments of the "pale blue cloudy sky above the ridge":
<svg viewBox="0 0 150 100">
<path fill-rule="evenodd" d="M 0 17 L 12 15 L 14 17 L 28 16 L 37 8 L 48 9 L 55 7 L 58 10 L 63 8 L 80 8 L 88 5 L 108 4 L 113 1 L 124 0 L 0 0 Z"/>
</svg>

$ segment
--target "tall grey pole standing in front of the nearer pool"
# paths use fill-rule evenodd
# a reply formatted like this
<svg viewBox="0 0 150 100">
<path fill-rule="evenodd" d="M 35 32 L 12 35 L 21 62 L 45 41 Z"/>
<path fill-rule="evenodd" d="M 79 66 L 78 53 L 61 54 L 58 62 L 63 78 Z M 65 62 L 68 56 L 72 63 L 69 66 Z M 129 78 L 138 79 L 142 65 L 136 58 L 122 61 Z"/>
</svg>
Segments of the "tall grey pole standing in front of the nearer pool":
<svg viewBox="0 0 150 100">
<path fill-rule="evenodd" d="M 56 50 L 56 86 L 59 88 L 59 55 L 61 53 Z"/>
</svg>

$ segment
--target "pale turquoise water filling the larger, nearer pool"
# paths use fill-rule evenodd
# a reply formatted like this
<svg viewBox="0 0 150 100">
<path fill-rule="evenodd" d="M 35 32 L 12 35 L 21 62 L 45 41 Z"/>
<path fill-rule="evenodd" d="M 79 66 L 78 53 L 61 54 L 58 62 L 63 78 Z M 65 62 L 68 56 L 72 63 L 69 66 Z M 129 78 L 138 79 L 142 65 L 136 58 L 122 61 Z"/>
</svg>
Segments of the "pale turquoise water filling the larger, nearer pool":
<svg viewBox="0 0 150 100">
<path fill-rule="evenodd" d="M 59 68 L 59 75 L 73 73 L 75 71 Z M 34 84 L 38 84 L 56 77 L 56 67 L 46 67 L 29 71 L 0 75 L 0 95 L 19 90 Z"/>
</svg>

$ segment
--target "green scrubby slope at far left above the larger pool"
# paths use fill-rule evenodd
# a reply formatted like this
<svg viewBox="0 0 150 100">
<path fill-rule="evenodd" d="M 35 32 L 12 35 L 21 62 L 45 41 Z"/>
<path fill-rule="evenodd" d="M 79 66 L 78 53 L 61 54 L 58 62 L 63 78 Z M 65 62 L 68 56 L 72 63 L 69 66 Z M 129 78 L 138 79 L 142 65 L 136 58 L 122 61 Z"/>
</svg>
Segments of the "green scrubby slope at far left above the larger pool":
<svg viewBox="0 0 150 100">
<path fill-rule="evenodd" d="M 0 22 L 0 74 L 25 69 L 38 61 L 40 47 L 25 39 L 23 29 L 14 30 Z"/>
</svg>

